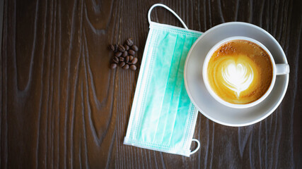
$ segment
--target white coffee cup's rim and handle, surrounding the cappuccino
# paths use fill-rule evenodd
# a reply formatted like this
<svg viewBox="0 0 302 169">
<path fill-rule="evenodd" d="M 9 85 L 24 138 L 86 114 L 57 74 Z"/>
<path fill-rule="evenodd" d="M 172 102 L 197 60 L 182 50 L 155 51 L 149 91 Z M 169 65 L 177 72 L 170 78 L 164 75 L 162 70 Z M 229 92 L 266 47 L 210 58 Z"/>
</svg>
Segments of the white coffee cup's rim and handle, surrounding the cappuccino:
<svg viewBox="0 0 302 169">
<path fill-rule="evenodd" d="M 210 84 L 209 84 L 209 80 L 208 80 L 208 65 L 209 65 L 209 60 L 211 58 L 211 56 L 214 54 L 214 52 L 219 49 L 219 47 L 221 46 L 221 44 L 226 43 L 228 41 L 232 41 L 232 40 L 247 40 L 250 42 L 253 42 L 255 44 L 257 44 L 258 46 L 260 46 L 262 49 L 264 49 L 267 54 L 269 55 L 270 60 L 272 61 L 272 82 L 269 86 L 269 89 L 267 89 L 267 92 L 265 92 L 265 94 L 263 94 L 259 99 L 257 99 L 256 101 L 253 101 L 249 104 L 231 104 L 227 101 L 224 101 L 223 99 L 221 99 L 215 92 L 214 90 L 211 88 Z M 218 101 L 220 104 L 223 104 L 225 106 L 231 107 L 231 108 L 248 108 L 251 106 L 255 106 L 257 104 L 260 104 L 263 100 L 265 100 L 265 98 L 267 98 L 267 96 L 269 96 L 269 93 L 272 92 L 272 89 L 274 87 L 274 83 L 276 81 L 276 75 L 286 75 L 289 74 L 289 64 L 286 63 L 282 63 L 282 64 L 276 64 L 274 62 L 274 58 L 272 57 L 272 54 L 269 52 L 269 50 L 260 42 L 258 42 L 255 39 L 252 39 L 250 37 L 228 37 L 226 39 L 221 40 L 220 42 L 218 42 L 217 44 L 215 44 L 208 52 L 205 60 L 204 60 L 204 64 L 202 67 L 202 77 L 204 80 L 204 84 L 205 87 L 207 88 L 209 94 L 211 94 L 211 96 L 214 97 L 214 99 L 216 99 L 216 101 Z"/>
</svg>

